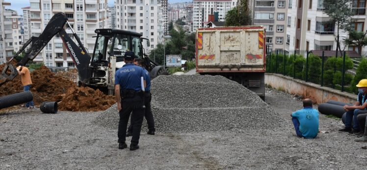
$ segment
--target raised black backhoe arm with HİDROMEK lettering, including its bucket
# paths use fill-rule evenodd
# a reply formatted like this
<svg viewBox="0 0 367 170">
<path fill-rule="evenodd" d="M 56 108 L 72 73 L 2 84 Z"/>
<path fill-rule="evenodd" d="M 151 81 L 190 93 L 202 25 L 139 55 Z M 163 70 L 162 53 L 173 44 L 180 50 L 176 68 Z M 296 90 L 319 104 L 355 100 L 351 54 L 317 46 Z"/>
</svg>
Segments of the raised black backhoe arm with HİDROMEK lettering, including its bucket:
<svg viewBox="0 0 367 170">
<path fill-rule="evenodd" d="M 33 61 L 33 59 L 42 51 L 42 49 L 51 41 L 51 39 L 59 34 L 66 49 L 69 51 L 69 54 L 72 56 L 74 64 L 77 66 L 79 72 L 79 78 L 81 82 L 84 82 L 88 79 L 88 65 L 90 62 L 90 56 L 85 50 L 83 44 L 80 42 L 79 37 L 73 31 L 73 37 L 79 43 L 79 46 L 72 41 L 72 39 L 66 33 L 64 26 L 65 23 L 69 25 L 68 18 L 64 13 L 57 13 L 52 16 L 49 23 L 46 25 L 44 31 L 40 34 L 39 37 L 32 37 L 29 39 L 23 47 L 13 55 L 13 57 L 5 63 L 5 66 L 0 75 L 0 86 L 5 84 L 6 82 L 12 81 L 17 75 L 18 72 L 14 65 L 11 64 L 11 61 L 21 54 L 23 51 L 26 53 L 25 57 L 21 60 L 21 63 L 27 64 L 29 61 Z M 30 45 L 31 44 L 31 45 Z M 27 46 L 30 47 L 26 49 Z M 10 74 L 8 74 L 10 71 Z"/>
</svg>

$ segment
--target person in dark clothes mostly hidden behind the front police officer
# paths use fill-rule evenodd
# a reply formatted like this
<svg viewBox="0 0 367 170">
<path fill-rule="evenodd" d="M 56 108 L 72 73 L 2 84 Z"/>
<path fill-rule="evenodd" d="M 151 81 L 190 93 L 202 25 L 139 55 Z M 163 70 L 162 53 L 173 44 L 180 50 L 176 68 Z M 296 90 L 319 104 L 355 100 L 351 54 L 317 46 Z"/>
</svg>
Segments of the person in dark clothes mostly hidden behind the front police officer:
<svg viewBox="0 0 367 170">
<path fill-rule="evenodd" d="M 141 66 L 143 69 L 143 59 L 135 59 L 134 64 L 137 66 Z M 149 72 L 148 70 L 144 69 L 144 73 L 145 73 L 145 81 L 146 81 L 146 88 L 145 88 L 145 93 L 144 93 L 144 105 L 145 105 L 145 119 L 147 120 L 147 124 L 148 124 L 148 134 L 150 135 L 154 135 L 156 128 L 154 127 L 154 117 L 153 117 L 153 113 L 152 113 L 152 109 L 151 109 L 151 105 L 150 102 L 152 100 L 152 94 L 150 92 L 150 77 L 149 77 Z M 128 128 L 128 133 L 126 134 L 126 136 L 131 136 L 132 135 L 132 125 L 133 122 L 131 122 L 129 128 Z"/>
</svg>

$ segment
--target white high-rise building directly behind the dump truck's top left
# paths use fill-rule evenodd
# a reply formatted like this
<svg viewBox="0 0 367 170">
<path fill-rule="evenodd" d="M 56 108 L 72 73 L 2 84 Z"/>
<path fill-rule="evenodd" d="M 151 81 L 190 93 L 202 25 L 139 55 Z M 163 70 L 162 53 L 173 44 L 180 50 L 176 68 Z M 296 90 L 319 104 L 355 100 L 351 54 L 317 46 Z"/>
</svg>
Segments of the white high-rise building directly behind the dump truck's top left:
<svg viewBox="0 0 367 170">
<path fill-rule="evenodd" d="M 225 21 L 227 12 L 236 6 L 237 0 L 193 0 L 193 31 L 205 27 L 214 12 L 219 12 L 218 21 Z"/>
</svg>

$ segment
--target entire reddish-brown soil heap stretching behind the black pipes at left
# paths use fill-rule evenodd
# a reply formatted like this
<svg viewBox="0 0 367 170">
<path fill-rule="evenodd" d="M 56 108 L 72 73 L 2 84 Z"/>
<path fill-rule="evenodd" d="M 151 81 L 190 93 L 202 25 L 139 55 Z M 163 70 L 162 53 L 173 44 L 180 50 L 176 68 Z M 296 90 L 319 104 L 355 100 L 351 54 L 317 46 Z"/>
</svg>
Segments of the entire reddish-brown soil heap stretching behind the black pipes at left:
<svg viewBox="0 0 367 170">
<path fill-rule="evenodd" d="M 0 65 L 0 71 L 3 68 Z M 46 66 L 31 72 L 33 102 L 36 106 L 45 101 L 60 102 L 59 110 L 99 111 L 105 110 L 115 102 L 113 96 L 107 96 L 100 90 L 78 87 L 65 75 L 55 75 Z M 0 97 L 23 91 L 21 77 L 0 86 Z"/>
</svg>

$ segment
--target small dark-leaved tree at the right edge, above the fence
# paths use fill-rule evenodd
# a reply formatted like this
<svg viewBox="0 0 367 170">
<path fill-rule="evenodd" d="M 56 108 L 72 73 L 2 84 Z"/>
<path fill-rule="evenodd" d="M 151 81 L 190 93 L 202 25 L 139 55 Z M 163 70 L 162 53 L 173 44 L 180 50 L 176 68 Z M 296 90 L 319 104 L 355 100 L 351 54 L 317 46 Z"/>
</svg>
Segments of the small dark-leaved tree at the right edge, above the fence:
<svg viewBox="0 0 367 170">
<path fill-rule="evenodd" d="M 350 31 L 349 38 L 344 40 L 344 43 L 348 46 L 357 46 L 358 47 L 358 54 L 362 53 L 362 47 L 367 45 L 367 38 L 366 38 L 367 31 L 358 32 L 358 31 Z"/>
</svg>

